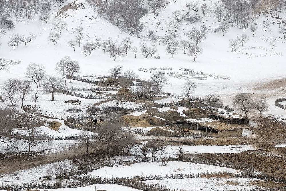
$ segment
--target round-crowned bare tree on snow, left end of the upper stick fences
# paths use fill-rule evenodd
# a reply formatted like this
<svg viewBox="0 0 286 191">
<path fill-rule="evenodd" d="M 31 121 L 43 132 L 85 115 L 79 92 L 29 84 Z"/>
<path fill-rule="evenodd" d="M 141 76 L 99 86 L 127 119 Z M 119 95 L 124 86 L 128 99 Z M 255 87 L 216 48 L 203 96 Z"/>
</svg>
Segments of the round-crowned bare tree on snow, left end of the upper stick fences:
<svg viewBox="0 0 286 191">
<path fill-rule="evenodd" d="M 64 86 L 64 83 L 55 75 L 50 75 L 45 78 L 43 83 L 43 91 L 45 93 L 51 93 L 52 101 L 54 101 L 54 95 L 58 89 Z"/>
</svg>

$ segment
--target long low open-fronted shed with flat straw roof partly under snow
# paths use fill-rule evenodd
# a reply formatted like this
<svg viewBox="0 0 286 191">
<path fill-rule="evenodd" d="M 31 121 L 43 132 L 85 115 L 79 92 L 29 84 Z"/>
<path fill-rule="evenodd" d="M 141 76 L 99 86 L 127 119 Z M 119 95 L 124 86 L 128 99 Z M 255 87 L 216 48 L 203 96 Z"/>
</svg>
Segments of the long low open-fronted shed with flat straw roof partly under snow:
<svg viewBox="0 0 286 191">
<path fill-rule="evenodd" d="M 173 121 L 178 128 L 188 128 L 211 132 L 213 136 L 242 136 L 242 127 L 219 122 L 209 118 L 184 119 Z"/>
</svg>

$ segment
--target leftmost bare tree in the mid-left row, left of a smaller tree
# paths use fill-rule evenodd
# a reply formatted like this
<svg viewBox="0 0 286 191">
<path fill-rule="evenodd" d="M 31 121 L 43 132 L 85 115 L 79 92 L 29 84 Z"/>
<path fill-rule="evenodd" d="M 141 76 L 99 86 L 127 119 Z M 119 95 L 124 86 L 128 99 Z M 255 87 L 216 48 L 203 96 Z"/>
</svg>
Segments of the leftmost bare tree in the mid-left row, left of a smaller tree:
<svg viewBox="0 0 286 191">
<path fill-rule="evenodd" d="M 13 106 L 13 97 L 17 94 L 17 80 L 16 79 L 7 79 L 2 84 L 2 92 L 6 98 L 9 98 L 11 105 Z"/>
</svg>

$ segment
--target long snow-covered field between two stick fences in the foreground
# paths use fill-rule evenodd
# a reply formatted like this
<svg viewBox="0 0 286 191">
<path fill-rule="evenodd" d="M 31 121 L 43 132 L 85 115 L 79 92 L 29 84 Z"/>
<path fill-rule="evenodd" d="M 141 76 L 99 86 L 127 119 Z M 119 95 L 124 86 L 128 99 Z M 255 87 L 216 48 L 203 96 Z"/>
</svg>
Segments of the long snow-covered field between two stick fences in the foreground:
<svg viewBox="0 0 286 191">
<path fill-rule="evenodd" d="M 114 166 L 94 170 L 88 174 L 104 177 L 131 177 L 140 175 L 162 175 L 165 174 L 198 174 L 200 172 L 238 172 L 235 169 L 206 164 L 194 164 L 190 162 L 168 162 L 167 166 L 162 166 L 161 162 L 141 162 L 131 166 Z"/>
</svg>

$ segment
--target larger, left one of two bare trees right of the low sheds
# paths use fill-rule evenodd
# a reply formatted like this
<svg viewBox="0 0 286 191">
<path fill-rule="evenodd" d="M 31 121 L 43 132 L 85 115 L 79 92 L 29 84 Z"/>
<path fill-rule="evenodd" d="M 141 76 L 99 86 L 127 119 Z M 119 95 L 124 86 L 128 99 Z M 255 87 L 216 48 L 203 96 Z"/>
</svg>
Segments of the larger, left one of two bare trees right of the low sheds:
<svg viewBox="0 0 286 191">
<path fill-rule="evenodd" d="M 253 102 L 251 94 L 247 93 L 239 93 L 233 99 L 233 105 L 243 111 L 246 118 L 248 118 L 247 113 L 253 109 Z"/>
</svg>

